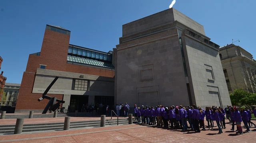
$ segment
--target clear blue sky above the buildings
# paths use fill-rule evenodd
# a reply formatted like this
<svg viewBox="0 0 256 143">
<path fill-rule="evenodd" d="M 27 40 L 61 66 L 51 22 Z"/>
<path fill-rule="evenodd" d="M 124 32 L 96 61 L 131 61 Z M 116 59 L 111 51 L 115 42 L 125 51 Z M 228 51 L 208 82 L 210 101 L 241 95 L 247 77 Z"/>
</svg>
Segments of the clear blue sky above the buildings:
<svg viewBox="0 0 256 143">
<path fill-rule="evenodd" d="M 0 0 L 0 71 L 21 83 L 28 56 L 39 52 L 46 24 L 71 31 L 70 44 L 108 52 L 122 25 L 169 8 L 172 0 Z M 256 0 L 176 0 L 174 8 L 204 25 L 206 36 L 256 56 Z"/>
</svg>

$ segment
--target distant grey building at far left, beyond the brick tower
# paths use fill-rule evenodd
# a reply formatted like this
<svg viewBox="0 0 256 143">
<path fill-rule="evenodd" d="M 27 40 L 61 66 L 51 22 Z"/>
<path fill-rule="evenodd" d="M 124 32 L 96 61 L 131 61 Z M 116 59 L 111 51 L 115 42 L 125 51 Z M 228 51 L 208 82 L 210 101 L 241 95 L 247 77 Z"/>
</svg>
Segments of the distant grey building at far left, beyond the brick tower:
<svg viewBox="0 0 256 143">
<path fill-rule="evenodd" d="M 6 83 L 4 86 L 4 93 L 6 94 L 5 100 L 1 101 L 1 106 L 16 106 L 18 94 L 20 90 L 20 84 L 18 83 Z"/>
</svg>

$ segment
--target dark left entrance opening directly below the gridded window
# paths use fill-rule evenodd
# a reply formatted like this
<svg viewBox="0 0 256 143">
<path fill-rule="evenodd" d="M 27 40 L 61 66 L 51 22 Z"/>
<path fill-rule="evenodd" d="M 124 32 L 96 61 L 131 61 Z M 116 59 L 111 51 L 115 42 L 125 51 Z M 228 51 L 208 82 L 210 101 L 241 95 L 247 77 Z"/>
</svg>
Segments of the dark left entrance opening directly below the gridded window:
<svg viewBox="0 0 256 143">
<path fill-rule="evenodd" d="M 70 112 L 82 111 L 83 104 L 88 104 L 88 95 L 71 95 L 70 97 Z"/>
</svg>

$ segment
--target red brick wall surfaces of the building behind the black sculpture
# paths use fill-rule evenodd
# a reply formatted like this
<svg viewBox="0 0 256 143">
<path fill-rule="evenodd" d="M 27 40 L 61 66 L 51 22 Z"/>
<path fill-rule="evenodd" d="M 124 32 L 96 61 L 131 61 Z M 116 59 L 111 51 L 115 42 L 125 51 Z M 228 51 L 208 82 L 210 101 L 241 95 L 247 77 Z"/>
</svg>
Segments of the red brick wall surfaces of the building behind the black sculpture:
<svg viewBox="0 0 256 143">
<path fill-rule="evenodd" d="M 40 64 L 46 65 L 46 69 L 50 70 L 114 77 L 114 71 L 111 70 L 68 64 L 69 40 L 70 35 L 45 30 L 40 56 L 29 55 L 26 71 L 22 77 L 16 110 L 41 110 L 48 103 L 49 100 L 38 102 L 37 100 L 42 97 L 42 94 L 32 93 L 36 71 L 40 68 Z M 61 94 L 48 95 L 63 99 Z"/>
</svg>

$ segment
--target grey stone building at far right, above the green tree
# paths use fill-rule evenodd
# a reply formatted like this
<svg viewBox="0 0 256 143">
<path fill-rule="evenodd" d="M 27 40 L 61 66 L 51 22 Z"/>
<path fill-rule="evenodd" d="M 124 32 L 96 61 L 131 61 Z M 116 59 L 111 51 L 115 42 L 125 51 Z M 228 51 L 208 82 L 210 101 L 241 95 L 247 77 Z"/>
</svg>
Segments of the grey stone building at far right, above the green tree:
<svg viewBox="0 0 256 143">
<path fill-rule="evenodd" d="M 236 88 L 256 91 L 256 61 L 252 54 L 240 46 L 230 44 L 220 48 L 219 56 L 229 93 Z"/>
</svg>

